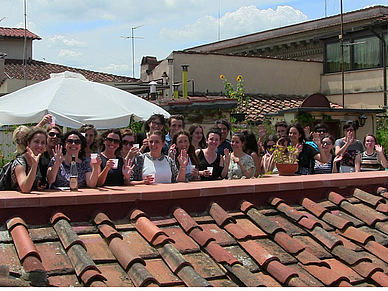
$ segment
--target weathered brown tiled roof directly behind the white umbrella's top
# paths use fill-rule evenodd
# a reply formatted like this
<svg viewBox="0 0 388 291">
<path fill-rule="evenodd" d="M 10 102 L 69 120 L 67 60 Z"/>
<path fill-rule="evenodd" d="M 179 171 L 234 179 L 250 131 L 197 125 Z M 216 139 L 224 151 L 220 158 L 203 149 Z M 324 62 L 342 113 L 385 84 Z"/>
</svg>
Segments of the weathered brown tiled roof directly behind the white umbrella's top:
<svg viewBox="0 0 388 291">
<path fill-rule="evenodd" d="M 24 67 L 22 60 L 10 60 L 5 59 L 5 74 L 8 79 L 23 79 Z M 28 61 L 27 66 L 27 79 L 44 81 L 50 78 L 52 73 L 61 73 L 64 71 L 70 71 L 82 74 L 89 81 L 95 82 L 133 82 L 137 79 L 125 76 L 117 76 L 112 74 L 100 73 L 90 70 L 77 69 L 73 67 L 57 65 L 52 63 L 46 63 L 42 61 L 31 60 Z"/>
</svg>

